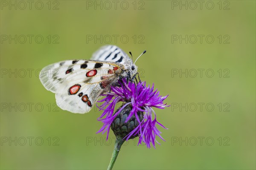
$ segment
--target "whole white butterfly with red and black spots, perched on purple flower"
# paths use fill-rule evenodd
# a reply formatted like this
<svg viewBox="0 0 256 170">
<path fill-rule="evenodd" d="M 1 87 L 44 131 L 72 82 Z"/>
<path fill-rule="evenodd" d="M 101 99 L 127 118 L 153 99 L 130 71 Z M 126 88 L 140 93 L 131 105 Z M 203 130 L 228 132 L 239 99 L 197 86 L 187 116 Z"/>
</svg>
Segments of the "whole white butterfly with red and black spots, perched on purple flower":
<svg viewBox="0 0 256 170">
<path fill-rule="evenodd" d="M 105 45 L 90 60 L 65 60 L 46 66 L 40 80 L 48 91 L 55 93 L 56 104 L 62 110 L 87 113 L 100 94 L 118 80 L 136 79 L 138 72 L 134 63 L 121 48 Z"/>
</svg>

